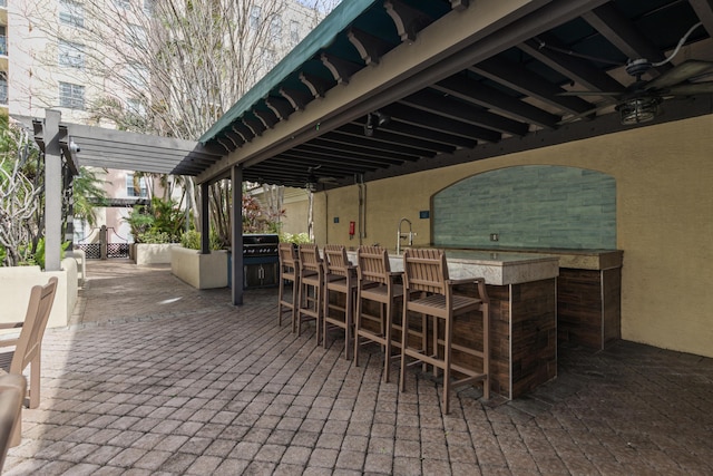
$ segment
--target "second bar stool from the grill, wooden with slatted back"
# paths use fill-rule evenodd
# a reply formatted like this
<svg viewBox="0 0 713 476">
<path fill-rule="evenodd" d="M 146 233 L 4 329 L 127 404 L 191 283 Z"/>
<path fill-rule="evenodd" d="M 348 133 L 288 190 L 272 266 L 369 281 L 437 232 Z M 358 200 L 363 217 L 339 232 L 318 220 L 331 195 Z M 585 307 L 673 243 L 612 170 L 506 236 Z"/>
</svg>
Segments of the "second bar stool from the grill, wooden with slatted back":
<svg viewBox="0 0 713 476">
<path fill-rule="evenodd" d="M 302 333 L 302 323 L 315 321 L 316 341 L 322 339 L 322 294 L 324 292 L 324 268 L 315 244 L 301 244 L 300 256 L 300 293 L 297 298 L 296 327 L 297 336 Z"/>
</svg>

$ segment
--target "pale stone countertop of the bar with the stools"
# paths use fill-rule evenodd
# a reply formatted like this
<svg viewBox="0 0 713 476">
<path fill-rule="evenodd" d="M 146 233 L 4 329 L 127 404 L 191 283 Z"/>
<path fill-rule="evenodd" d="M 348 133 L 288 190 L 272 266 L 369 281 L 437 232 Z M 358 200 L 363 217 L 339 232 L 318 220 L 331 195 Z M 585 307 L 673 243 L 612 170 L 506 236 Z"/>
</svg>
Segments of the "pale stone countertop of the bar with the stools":
<svg viewBox="0 0 713 476">
<path fill-rule="evenodd" d="M 348 252 L 356 263 L 356 252 Z M 486 252 L 476 250 L 446 250 L 448 274 L 451 279 L 485 278 L 494 285 L 519 284 L 559 275 L 559 259 L 529 253 Z M 389 252 L 391 271 L 403 271 L 403 258 Z"/>
</svg>

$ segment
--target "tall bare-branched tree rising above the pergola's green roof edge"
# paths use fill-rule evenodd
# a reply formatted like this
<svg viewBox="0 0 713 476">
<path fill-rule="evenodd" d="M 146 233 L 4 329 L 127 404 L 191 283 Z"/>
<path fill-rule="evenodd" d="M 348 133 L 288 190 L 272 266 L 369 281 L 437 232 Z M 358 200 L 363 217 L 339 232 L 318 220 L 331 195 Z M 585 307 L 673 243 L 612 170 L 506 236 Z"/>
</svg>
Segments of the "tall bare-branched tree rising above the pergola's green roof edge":
<svg viewBox="0 0 713 476">
<path fill-rule="evenodd" d="M 334 0 L 85 0 L 79 21 L 67 17 L 36 25 L 70 52 L 70 65 L 87 85 L 86 108 L 95 122 L 160 136 L 196 139 L 311 31 Z M 41 14 L 41 3 L 25 16 Z M 79 14 L 77 14 L 78 17 Z M 64 19 L 62 19 L 64 18 Z M 74 18 L 74 17 L 72 17 Z M 57 65 L 47 52 L 37 58 Z M 56 88 L 52 84 L 52 88 Z M 88 95 L 89 96 L 89 95 Z M 185 183 L 198 216 L 193 179 Z M 214 203 L 229 202 L 229 184 L 212 185 Z M 227 208 L 213 212 L 227 233 Z M 196 223 L 196 227 L 197 227 Z M 227 237 L 227 234 L 224 234 Z"/>
</svg>

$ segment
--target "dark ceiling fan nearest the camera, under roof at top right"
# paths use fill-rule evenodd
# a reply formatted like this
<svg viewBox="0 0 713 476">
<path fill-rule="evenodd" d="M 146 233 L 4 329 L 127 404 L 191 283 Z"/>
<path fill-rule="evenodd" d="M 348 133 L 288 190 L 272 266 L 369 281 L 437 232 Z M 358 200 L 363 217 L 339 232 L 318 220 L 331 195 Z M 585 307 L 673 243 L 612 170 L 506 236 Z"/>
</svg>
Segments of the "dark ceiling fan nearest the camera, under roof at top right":
<svg viewBox="0 0 713 476">
<path fill-rule="evenodd" d="M 701 94 L 713 93 L 713 81 L 699 81 L 704 76 L 713 74 L 713 62 L 688 59 L 663 72 L 661 76 L 645 80 L 642 79 L 648 70 L 663 66 L 671 61 L 681 50 L 688 36 L 702 26 L 701 22 L 694 25 L 681 38 L 674 51 L 661 62 L 651 62 L 644 58 L 629 60 L 626 64 L 626 72 L 635 78 L 624 93 L 622 91 L 565 91 L 560 96 L 612 96 L 616 99 L 615 109 L 619 113 L 622 124 L 634 125 L 654 119 L 661 114 L 661 103 L 665 99 L 676 97 L 688 97 Z M 545 43 L 541 43 L 546 46 Z M 578 119 L 583 116 L 596 113 L 608 107 L 602 106 L 594 110 L 574 116 L 567 122 Z"/>
</svg>

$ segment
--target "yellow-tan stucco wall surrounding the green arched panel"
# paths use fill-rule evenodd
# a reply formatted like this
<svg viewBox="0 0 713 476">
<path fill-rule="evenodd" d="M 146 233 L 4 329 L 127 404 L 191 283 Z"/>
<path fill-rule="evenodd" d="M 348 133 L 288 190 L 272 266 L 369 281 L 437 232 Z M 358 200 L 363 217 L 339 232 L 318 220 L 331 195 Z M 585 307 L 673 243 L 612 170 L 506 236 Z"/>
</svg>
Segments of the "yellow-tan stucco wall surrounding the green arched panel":
<svg viewBox="0 0 713 476">
<path fill-rule="evenodd" d="M 472 174 L 525 164 L 604 172 L 616 179 L 617 247 L 624 250 L 622 337 L 713 357 L 711 157 L 709 115 L 370 182 L 363 243 L 394 247 L 406 216 L 418 233 L 416 244 L 430 244 L 430 220 L 419 212 L 430 210 L 434 193 Z M 355 186 L 316 194 L 314 210 L 318 244 L 359 245 L 348 235 L 359 213 Z"/>
</svg>

